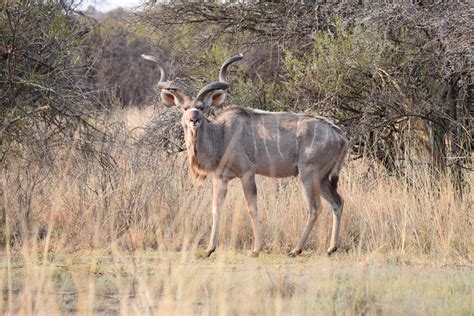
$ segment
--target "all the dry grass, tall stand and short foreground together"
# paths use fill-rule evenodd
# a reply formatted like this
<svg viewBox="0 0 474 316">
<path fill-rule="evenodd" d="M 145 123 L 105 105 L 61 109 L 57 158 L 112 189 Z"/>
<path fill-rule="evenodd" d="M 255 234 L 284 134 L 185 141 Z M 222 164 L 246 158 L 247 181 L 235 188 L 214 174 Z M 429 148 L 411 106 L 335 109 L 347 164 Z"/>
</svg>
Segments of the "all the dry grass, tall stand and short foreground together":
<svg viewBox="0 0 474 316">
<path fill-rule="evenodd" d="M 90 159 L 65 144 L 47 162 L 25 159 L 3 169 L 4 312 L 474 310 L 469 188 L 460 201 L 448 180 L 434 181 L 423 168 L 397 179 L 350 163 L 340 185 L 341 251 L 322 255 L 331 224 L 325 205 L 304 257 L 290 260 L 284 254 L 305 221 L 300 188 L 295 179 L 259 178 L 266 253 L 248 259 L 252 234 L 235 181 L 217 255 L 196 259 L 210 232 L 210 185 L 190 181 L 184 157 L 134 145 L 148 117 L 125 112 L 117 141 L 98 145 L 113 160 Z"/>
</svg>

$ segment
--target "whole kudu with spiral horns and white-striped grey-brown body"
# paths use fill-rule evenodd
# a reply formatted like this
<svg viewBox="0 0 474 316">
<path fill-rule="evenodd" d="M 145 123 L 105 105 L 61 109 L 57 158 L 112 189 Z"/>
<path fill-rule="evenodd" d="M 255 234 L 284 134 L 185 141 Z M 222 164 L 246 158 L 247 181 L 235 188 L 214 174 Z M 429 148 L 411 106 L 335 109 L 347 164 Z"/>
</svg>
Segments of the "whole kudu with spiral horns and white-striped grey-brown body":
<svg viewBox="0 0 474 316">
<path fill-rule="evenodd" d="M 297 256 L 303 250 L 321 209 L 321 195 L 333 212 L 327 252 L 336 251 L 343 208 L 337 182 L 347 152 L 347 141 L 340 129 L 324 118 L 308 114 L 266 112 L 240 106 L 227 107 L 215 118 L 207 118 L 210 107 L 224 103 L 229 87 L 227 67 L 241 60 L 242 55 L 225 61 L 219 81 L 206 85 L 195 97 L 178 82 L 168 81 L 166 69 L 157 58 L 142 57 L 158 64 L 161 72 L 158 88 L 165 106 L 176 106 L 183 113 L 181 124 L 193 176 L 198 179 L 212 176 L 212 231 L 207 256 L 216 249 L 227 183 L 234 178 L 242 182 L 254 235 L 252 256 L 258 256 L 261 237 L 256 174 L 274 178 L 298 176 L 301 180 L 309 214 L 300 240 L 289 256 Z"/>
</svg>

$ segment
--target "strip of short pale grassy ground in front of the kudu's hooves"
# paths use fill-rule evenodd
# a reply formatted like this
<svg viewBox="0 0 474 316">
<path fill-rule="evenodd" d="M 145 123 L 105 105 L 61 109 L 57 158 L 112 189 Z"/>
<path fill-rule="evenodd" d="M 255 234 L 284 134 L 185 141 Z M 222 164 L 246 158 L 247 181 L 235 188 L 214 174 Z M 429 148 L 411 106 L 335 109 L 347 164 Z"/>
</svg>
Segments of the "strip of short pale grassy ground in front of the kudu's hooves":
<svg viewBox="0 0 474 316">
<path fill-rule="evenodd" d="M 220 250 L 2 257 L 4 311 L 18 314 L 472 315 L 471 266 L 424 258 Z M 7 256 L 8 258 L 8 256 Z M 10 262 L 9 262 L 10 261 Z"/>
</svg>

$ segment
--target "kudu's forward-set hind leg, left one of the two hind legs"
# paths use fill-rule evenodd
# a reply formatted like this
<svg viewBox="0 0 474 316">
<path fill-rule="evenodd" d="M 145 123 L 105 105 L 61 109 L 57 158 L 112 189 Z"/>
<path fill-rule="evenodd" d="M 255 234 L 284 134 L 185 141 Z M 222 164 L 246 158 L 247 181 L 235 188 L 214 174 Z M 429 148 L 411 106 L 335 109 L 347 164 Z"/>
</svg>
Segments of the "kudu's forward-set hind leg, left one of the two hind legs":
<svg viewBox="0 0 474 316">
<path fill-rule="evenodd" d="M 321 210 L 321 192 L 320 192 L 320 180 L 317 173 L 307 173 L 301 175 L 301 182 L 303 184 L 304 193 L 309 204 L 308 219 L 306 221 L 306 227 L 301 234 L 300 240 L 288 256 L 296 257 L 303 251 L 303 247 L 308 240 L 308 236 L 313 229 L 316 219 Z"/>
</svg>

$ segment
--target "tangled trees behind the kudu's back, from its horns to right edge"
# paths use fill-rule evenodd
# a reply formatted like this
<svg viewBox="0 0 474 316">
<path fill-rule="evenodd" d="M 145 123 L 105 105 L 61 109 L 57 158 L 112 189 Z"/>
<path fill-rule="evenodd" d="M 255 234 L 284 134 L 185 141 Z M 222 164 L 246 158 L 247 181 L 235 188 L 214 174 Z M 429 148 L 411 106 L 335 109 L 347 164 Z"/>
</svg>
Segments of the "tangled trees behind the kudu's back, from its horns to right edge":
<svg viewBox="0 0 474 316">
<path fill-rule="evenodd" d="M 330 116 L 354 157 L 401 175 L 427 163 L 462 185 L 472 150 L 468 4 L 171 2 L 138 17 L 179 74 L 215 78 L 243 51 L 233 101 Z"/>
</svg>

